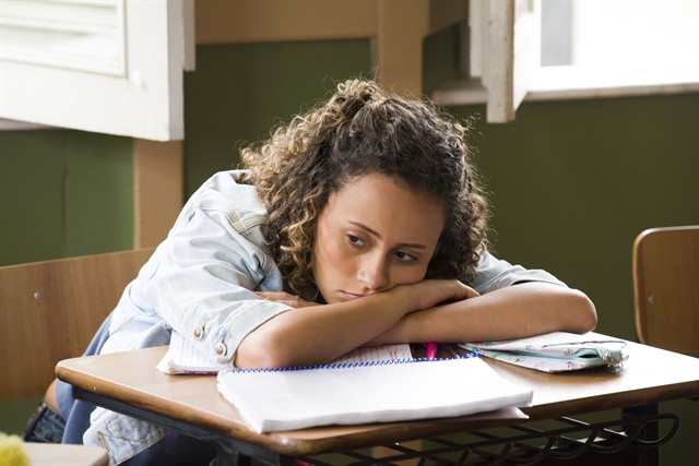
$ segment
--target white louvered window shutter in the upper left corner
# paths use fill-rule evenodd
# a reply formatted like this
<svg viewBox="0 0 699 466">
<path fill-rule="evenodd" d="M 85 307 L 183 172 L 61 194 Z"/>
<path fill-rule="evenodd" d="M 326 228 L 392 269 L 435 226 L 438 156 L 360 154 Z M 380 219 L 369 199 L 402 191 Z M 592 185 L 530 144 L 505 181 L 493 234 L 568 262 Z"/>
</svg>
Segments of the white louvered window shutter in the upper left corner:
<svg viewBox="0 0 699 466">
<path fill-rule="evenodd" d="M 61 60 L 61 53 L 63 57 L 79 55 L 57 47 L 61 40 L 48 40 L 48 48 L 54 51 L 44 53 L 44 58 L 37 58 L 37 53 L 28 49 L 23 57 L 22 40 L 13 43 L 4 38 L 21 39 L 22 34 L 32 33 L 26 26 L 31 21 L 26 22 L 26 15 L 21 17 L 22 11 L 3 7 L 4 11 L 0 12 L 3 34 L 0 47 L 0 117 L 154 141 L 183 139 L 182 72 L 186 63 L 188 69 L 193 69 L 194 63 L 193 8 L 188 2 L 191 3 L 190 0 L 17 2 L 36 3 L 38 11 L 44 7 L 87 8 L 98 3 L 115 7 L 110 14 L 116 17 L 116 24 L 112 17 L 107 21 L 107 27 L 84 24 L 80 27 L 85 31 L 92 27 L 94 35 L 103 40 L 111 34 L 117 38 L 116 52 L 114 41 L 111 47 L 102 47 L 98 49 L 100 52 L 94 52 L 94 47 L 85 45 L 85 37 L 90 34 L 71 29 L 68 33 L 80 39 L 76 49 L 88 50 L 79 57 L 78 63 L 75 60 Z M 112 14 L 115 11 L 116 15 Z M 59 15 L 55 13 L 52 16 Z M 62 25 L 56 23 L 47 22 L 46 15 L 44 21 L 39 17 L 34 22 L 38 29 L 66 32 L 73 27 L 68 24 L 71 21 Z M 111 33 L 104 33 L 109 28 Z M 25 43 L 35 41 L 34 37 L 40 37 L 40 33 Z M 71 40 L 62 41 L 69 43 Z M 10 47 L 5 47 L 8 44 Z"/>
</svg>

